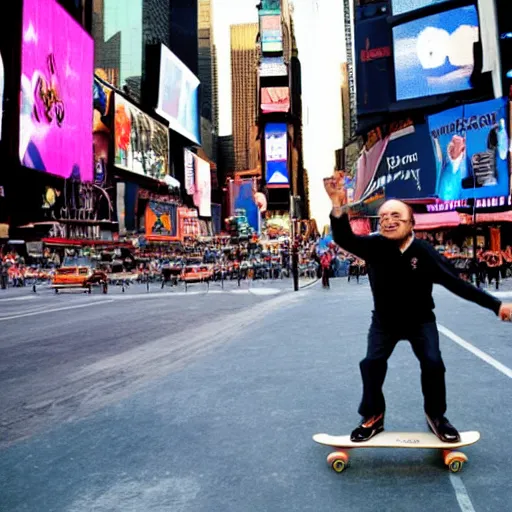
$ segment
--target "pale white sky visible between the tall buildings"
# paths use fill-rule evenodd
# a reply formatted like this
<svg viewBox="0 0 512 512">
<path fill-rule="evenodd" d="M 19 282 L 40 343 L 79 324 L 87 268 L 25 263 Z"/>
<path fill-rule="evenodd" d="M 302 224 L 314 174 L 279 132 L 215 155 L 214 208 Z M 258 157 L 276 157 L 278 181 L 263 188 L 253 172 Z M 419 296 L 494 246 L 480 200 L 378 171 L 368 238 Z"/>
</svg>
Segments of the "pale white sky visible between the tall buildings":
<svg viewBox="0 0 512 512">
<path fill-rule="evenodd" d="M 219 80 L 219 134 L 231 129 L 231 25 L 256 23 L 257 0 L 213 0 Z M 330 202 L 323 178 L 334 170 L 342 146 L 341 63 L 345 60 L 343 2 L 294 0 L 295 35 L 302 65 L 304 166 L 310 181 L 311 216 L 328 223 Z"/>
</svg>

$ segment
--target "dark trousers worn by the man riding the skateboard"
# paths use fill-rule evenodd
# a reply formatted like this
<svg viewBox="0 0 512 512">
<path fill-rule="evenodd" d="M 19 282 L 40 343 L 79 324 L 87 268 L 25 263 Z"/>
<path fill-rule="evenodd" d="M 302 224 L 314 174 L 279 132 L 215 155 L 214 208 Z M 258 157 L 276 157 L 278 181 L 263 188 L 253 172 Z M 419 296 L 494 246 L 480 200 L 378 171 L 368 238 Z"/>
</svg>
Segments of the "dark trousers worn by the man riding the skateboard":
<svg viewBox="0 0 512 512">
<path fill-rule="evenodd" d="M 376 315 L 368 333 L 366 357 L 359 365 L 363 378 L 363 399 L 359 414 L 369 418 L 385 412 L 382 386 L 386 378 L 388 359 L 400 340 L 411 343 L 420 362 L 425 412 L 431 417 L 443 416 L 446 412 L 446 370 L 439 350 L 436 323 L 414 324 L 395 329 L 383 326 Z"/>
</svg>

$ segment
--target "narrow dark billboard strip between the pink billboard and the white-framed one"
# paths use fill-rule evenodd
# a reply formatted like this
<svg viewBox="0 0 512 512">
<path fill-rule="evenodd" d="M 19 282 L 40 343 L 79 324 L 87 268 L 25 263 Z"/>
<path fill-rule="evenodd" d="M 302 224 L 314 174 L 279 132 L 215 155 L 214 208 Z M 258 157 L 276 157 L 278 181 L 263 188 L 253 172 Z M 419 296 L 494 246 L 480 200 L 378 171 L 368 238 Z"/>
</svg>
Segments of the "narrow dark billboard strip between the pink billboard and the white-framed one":
<svg viewBox="0 0 512 512">
<path fill-rule="evenodd" d="M 94 78 L 93 82 L 93 157 L 94 181 L 102 184 L 107 174 L 109 148 L 112 139 L 112 89 Z"/>
</svg>

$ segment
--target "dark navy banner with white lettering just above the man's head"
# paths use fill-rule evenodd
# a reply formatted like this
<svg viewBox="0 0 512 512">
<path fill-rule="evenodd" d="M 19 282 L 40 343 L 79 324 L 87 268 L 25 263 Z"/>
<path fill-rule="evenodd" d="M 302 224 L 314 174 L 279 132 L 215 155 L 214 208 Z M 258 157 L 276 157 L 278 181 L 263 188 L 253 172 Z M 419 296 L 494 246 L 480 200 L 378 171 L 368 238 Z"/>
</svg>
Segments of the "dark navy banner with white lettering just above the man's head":
<svg viewBox="0 0 512 512">
<path fill-rule="evenodd" d="M 367 194 L 384 188 L 386 199 L 422 199 L 436 190 L 436 164 L 424 124 L 390 135 L 386 151 Z"/>
</svg>

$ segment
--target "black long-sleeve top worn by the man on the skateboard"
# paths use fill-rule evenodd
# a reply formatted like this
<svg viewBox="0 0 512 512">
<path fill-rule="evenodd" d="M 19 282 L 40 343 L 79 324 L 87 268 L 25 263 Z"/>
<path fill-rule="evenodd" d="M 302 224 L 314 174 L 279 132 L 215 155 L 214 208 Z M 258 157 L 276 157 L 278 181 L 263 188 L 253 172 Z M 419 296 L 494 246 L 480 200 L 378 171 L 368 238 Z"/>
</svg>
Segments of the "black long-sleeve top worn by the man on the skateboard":
<svg viewBox="0 0 512 512">
<path fill-rule="evenodd" d="M 434 284 L 499 313 L 501 301 L 457 276 L 428 242 L 415 238 L 402 253 L 395 241 L 381 235 L 355 235 L 346 214 L 331 215 L 331 228 L 340 247 L 366 261 L 375 313 L 382 321 L 434 321 Z"/>
</svg>

